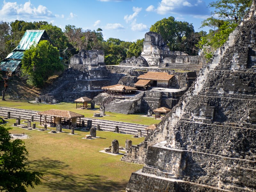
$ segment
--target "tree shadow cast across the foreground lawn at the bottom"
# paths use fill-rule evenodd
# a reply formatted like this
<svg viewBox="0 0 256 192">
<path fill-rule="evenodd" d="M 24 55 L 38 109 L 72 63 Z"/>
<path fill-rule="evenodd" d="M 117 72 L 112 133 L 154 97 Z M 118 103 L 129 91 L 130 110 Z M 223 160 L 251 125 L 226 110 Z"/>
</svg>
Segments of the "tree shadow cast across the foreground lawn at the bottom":
<svg viewBox="0 0 256 192">
<path fill-rule="evenodd" d="M 28 161 L 27 164 L 30 165 L 29 171 L 44 173 L 40 185 L 48 188 L 49 191 L 121 191 L 125 190 L 127 185 L 127 183 L 107 180 L 108 178 L 100 175 L 66 174 L 69 165 L 50 158 Z"/>
</svg>

